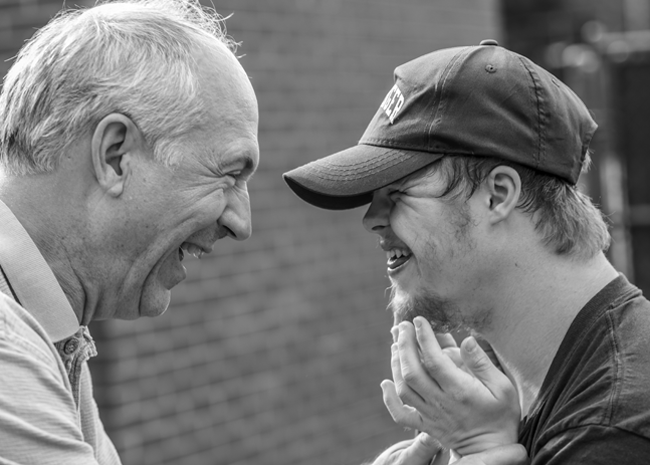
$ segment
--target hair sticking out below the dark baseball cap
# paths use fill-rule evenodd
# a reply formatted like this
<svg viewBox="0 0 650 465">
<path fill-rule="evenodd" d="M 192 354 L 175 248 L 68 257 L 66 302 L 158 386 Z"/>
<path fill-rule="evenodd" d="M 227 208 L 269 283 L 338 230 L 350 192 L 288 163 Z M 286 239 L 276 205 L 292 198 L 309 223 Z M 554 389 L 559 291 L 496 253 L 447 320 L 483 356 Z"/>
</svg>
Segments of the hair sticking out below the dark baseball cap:
<svg viewBox="0 0 650 465">
<path fill-rule="evenodd" d="M 589 156 L 583 166 L 588 166 Z M 601 211 L 591 199 L 561 178 L 493 157 L 446 156 L 434 163 L 446 180 L 441 198 L 469 198 L 499 165 L 515 169 L 521 178 L 517 208 L 535 221 L 543 243 L 558 255 L 588 259 L 608 249 L 611 237 Z"/>
</svg>

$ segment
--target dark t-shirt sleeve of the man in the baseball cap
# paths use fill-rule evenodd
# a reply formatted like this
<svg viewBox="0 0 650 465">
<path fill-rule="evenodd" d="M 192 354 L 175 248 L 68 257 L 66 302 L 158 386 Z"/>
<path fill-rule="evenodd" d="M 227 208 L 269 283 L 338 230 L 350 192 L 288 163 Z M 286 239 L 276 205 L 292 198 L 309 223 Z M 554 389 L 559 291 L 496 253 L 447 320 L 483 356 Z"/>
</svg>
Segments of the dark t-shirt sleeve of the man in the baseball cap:
<svg viewBox="0 0 650 465">
<path fill-rule="evenodd" d="M 648 465 L 650 440 L 620 428 L 591 425 L 566 430 L 546 442 L 531 465 Z"/>
</svg>

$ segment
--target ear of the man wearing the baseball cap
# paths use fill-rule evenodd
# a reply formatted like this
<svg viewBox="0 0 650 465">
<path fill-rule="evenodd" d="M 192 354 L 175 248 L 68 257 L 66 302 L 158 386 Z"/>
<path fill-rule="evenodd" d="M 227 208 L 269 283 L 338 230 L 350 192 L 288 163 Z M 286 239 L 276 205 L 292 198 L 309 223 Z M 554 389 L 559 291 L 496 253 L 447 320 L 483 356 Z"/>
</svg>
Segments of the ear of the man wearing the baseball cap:
<svg viewBox="0 0 650 465">
<path fill-rule="evenodd" d="M 500 165 L 490 172 L 485 183 L 490 222 L 496 224 L 508 218 L 517 207 L 521 196 L 521 178 L 514 168 Z"/>
</svg>

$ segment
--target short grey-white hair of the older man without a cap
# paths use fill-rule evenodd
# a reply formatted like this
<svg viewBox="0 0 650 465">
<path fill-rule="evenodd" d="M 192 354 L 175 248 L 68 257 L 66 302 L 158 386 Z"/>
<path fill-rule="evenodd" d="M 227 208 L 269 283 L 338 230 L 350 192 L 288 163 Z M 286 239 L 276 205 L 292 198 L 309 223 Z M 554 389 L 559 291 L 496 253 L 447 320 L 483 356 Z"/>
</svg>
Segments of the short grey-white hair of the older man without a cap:
<svg viewBox="0 0 650 465">
<path fill-rule="evenodd" d="M 196 127 L 202 105 L 193 52 L 234 52 L 223 18 L 196 0 L 127 0 L 66 10 L 21 49 L 0 95 L 0 165 L 56 169 L 66 147 L 110 113 L 133 119 L 162 163 Z"/>
</svg>

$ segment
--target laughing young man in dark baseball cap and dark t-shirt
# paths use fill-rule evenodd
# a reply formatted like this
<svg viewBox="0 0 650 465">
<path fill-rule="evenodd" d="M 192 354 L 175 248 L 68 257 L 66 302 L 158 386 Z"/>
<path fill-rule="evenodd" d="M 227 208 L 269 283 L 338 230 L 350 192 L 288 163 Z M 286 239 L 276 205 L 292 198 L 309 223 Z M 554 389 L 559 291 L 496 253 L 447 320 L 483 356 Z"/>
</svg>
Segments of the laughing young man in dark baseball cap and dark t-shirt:
<svg viewBox="0 0 650 465">
<path fill-rule="evenodd" d="M 370 204 L 398 423 L 468 457 L 517 439 L 519 408 L 476 340 L 455 348 L 429 323 L 468 328 L 516 387 L 533 464 L 648 463 L 650 303 L 607 261 L 606 225 L 576 187 L 595 129 L 564 84 L 484 41 L 398 67 L 357 146 L 285 175 L 313 205 Z"/>
</svg>

